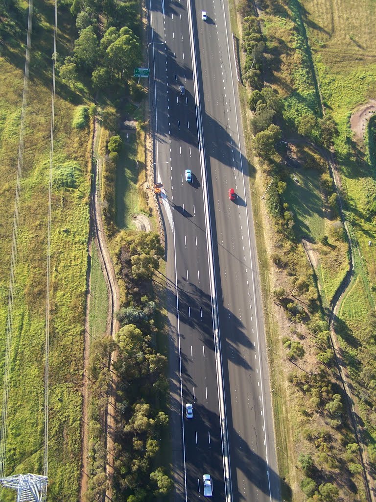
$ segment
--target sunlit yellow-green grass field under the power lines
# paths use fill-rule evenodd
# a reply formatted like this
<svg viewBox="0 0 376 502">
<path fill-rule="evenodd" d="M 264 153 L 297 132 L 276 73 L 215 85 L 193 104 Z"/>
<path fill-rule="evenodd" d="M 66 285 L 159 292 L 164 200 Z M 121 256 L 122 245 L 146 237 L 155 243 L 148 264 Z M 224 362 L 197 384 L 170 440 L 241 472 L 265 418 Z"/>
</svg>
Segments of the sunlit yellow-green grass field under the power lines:
<svg viewBox="0 0 376 502">
<path fill-rule="evenodd" d="M 40 24 L 32 36 L 30 82 L 11 349 L 11 392 L 6 474 L 43 473 L 46 249 L 50 152 L 53 3 L 36 2 Z M 27 5 L 24 6 L 27 8 Z M 59 17 L 58 48 L 71 42 L 67 19 Z M 26 37 L 25 37 L 26 39 Z M 0 56 L 0 379 L 5 332 L 18 143 L 23 92 L 24 41 L 13 40 Z M 57 83 L 54 175 L 69 165 L 74 183 L 54 182 L 51 233 L 50 449 L 49 490 L 77 499 L 81 461 L 82 348 L 86 291 L 90 131 L 72 128 L 80 97 Z M 70 99 L 67 99 L 67 98 Z M 13 495 L 3 491 L 1 499 Z"/>
</svg>

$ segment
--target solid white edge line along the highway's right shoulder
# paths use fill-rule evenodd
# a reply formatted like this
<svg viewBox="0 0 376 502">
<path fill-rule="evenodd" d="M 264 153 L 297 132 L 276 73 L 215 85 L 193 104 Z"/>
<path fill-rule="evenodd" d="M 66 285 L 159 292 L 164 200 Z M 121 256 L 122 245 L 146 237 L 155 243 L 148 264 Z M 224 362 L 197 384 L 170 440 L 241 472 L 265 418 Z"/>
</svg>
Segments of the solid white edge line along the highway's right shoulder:
<svg viewBox="0 0 376 502">
<path fill-rule="evenodd" d="M 230 55 L 230 46 L 229 46 L 229 36 L 228 36 L 228 30 L 227 30 L 227 21 L 226 21 L 226 13 L 225 13 L 225 3 L 222 3 L 222 10 L 223 10 L 223 16 L 225 20 L 225 32 L 226 32 L 226 41 L 227 41 L 227 54 L 229 57 L 229 63 L 230 63 L 230 75 L 231 75 L 231 84 L 233 88 L 233 95 L 234 95 L 234 100 L 235 100 L 235 86 L 234 86 L 234 78 L 233 78 L 233 69 L 232 69 L 232 64 L 231 64 L 231 55 Z M 238 97 L 239 99 L 239 97 Z M 242 178 L 243 178 L 243 189 L 244 189 L 244 198 L 246 194 L 246 185 L 244 181 L 244 171 L 243 171 L 243 161 L 242 161 L 242 147 L 241 147 L 241 142 L 240 142 L 240 134 L 239 134 L 239 123 L 238 123 L 238 112 L 237 112 L 237 107 L 236 107 L 236 102 L 234 101 L 235 104 L 235 118 L 236 118 L 236 129 L 238 133 L 238 145 L 239 145 L 239 154 L 240 154 L 240 166 L 242 168 Z M 246 201 L 246 199 L 245 199 Z M 251 250 L 251 236 L 250 236 L 250 231 L 249 231 L 249 220 L 248 220 L 248 206 L 247 206 L 247 201 L 246 201 L 246 215 L 247 215 L 247 230 L 248 230 L 248 243 L 249 243 L 249 255 L 250 255 L 250 260 L 251 260 L 251 272 L 252 272 L 252 286 L 253 286 L 253 298 L 254 298 L 254 303 L 255 303 L 255 310 L 256 310 L 256 289 L 255 289 L 255 281 L 253 279 L 253 260 L 252 260 L 252 250 Z M 257 315 L 256 315 L 256 334 L 257 334 L 257 341 L 258 341 L 258 352 L 259 352 L 259 367 L 260 367 L 260 373 L 262 374 L 261 371 L 261 352 L 260 352 L 260 337 L 259 337 L 259 327 L 258 327 L 258 321 L 257 321 Z M 265 438 L 267 437 L 267 432 L 266 432 L 266 423 L 265 423 L 265 409 L 264 409 L 264 390 L 263 390 L 263 385 L 262 385 L 262 379 L 261 380 L 261 395 L 262 395 L 262 409 L 263 409 L 263 421 L 264 421 L 264 427 L 265 427 Z M 273 431 L 274 432 L 274 431 Z M 268 484 L 269 484 L 269 497 L 270 500 L 272 501 L 272 489 L 270 486 L 270 472 L 269 472 L 269 462 L 268 462 L 268 447 L 265 445 L 265 450 L 266 450 L 266 465 L 267 465 L 267 474 L 268 474 Z"/>
</svg>

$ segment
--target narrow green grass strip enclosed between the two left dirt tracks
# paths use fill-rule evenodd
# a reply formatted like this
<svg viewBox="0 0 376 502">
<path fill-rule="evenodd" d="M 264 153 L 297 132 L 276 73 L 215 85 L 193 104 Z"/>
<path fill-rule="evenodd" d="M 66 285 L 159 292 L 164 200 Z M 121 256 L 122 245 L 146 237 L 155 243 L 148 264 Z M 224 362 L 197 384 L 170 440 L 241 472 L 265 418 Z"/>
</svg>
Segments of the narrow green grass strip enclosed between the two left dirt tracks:
<svg viewBox="0 0 376 502">
<path fill-rule="evenodd" d="M 108 312 L 108 291 L 104 280 L 97 246 L 92 243 L 91 259 L 91 297 L 90 297 L 90 334 L 95 338 L 101 338 L 106 331 Z"/>
</svg>

